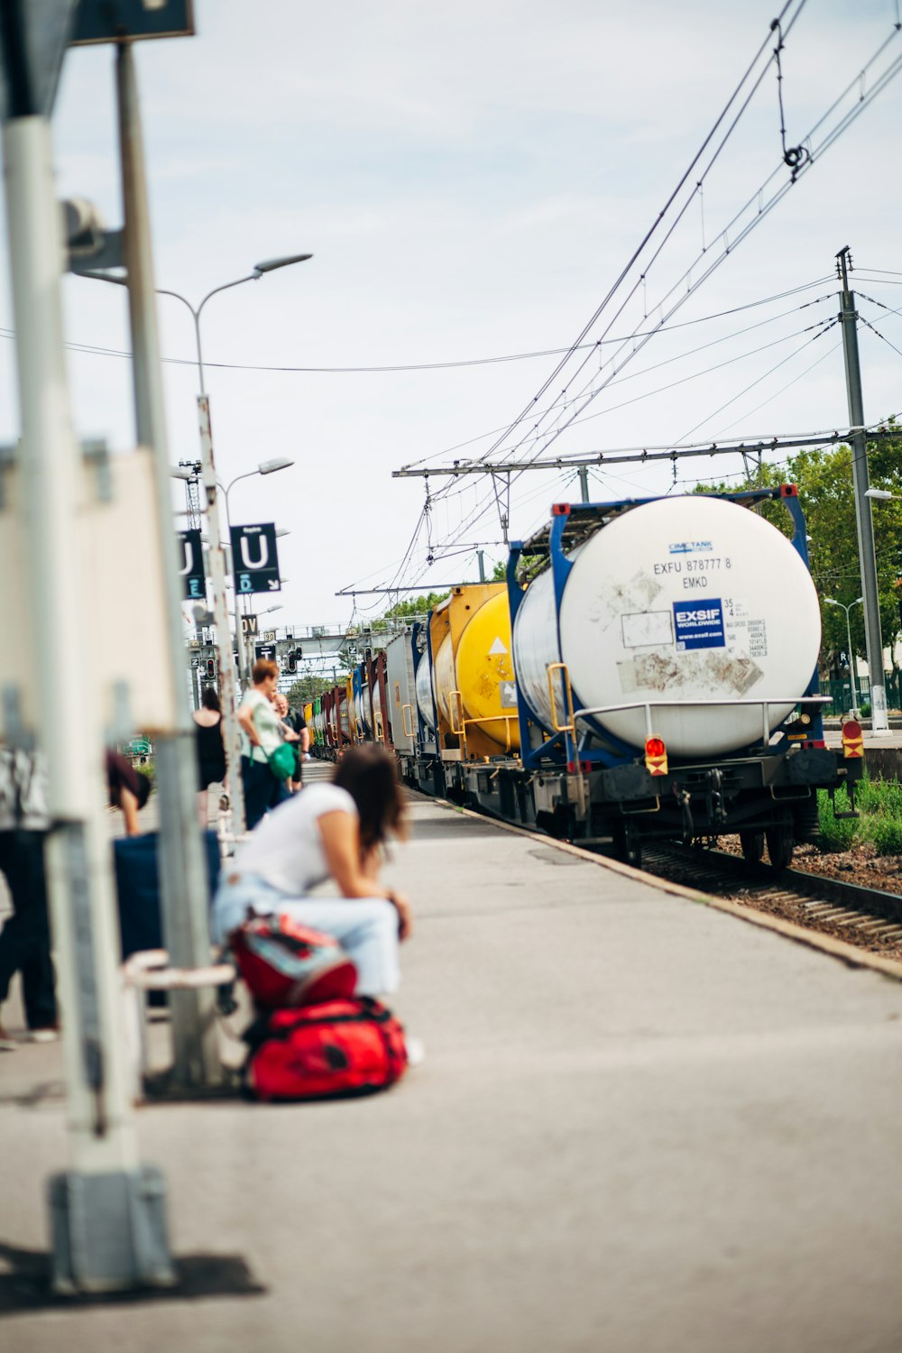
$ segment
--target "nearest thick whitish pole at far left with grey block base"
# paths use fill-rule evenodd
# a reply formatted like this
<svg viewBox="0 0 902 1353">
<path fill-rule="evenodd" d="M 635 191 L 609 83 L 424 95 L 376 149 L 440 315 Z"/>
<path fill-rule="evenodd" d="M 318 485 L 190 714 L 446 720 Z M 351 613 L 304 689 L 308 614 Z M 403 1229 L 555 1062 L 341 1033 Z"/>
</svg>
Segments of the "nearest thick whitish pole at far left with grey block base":
<svg viewBox="0 0 902 1353">
<path fill-rule="evenodd" d="M 9 41 L 7 31 L 7 72 L 22 60 Z M 101 717 L 84 624 L 91 598 L 80 580 L 78 449 L 60 298 L 65 249 L 47 119 L 14 111 L 3 157 L 22 417 L 22 583 L 53 820 L 46 862 L 70 1147 L 70 1169 L 50 1180 L 53 1281 L 61 1292 L 103 1292 L 168 1284 L 174 1273 L 162 1177 L 139 1165 L 119 1042 L 119 938 Z"/>
</svg>

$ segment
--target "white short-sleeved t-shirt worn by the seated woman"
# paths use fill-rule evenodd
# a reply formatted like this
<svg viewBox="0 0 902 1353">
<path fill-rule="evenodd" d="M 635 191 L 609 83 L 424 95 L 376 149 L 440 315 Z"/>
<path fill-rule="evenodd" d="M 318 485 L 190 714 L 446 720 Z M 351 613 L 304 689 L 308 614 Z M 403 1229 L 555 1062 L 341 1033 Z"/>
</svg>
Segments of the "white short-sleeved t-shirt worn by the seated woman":
<svg viewBox="0 0 902 1353">
<path fill-rule="evenodd" d="M 250 840 L 235 851 L 235 871 L 258 874 L 292 897 L 329 878 L 318 820 L 323 813 L 357 817 L 357 804 L 338 785 L 310 785 L 266 813 Z"/>
</svg>

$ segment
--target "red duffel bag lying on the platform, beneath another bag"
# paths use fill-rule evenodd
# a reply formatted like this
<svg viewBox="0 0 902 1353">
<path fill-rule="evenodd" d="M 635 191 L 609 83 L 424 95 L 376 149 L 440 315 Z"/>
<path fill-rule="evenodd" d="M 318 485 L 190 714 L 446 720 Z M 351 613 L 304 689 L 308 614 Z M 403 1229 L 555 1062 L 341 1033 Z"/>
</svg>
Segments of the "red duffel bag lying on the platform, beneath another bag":
<svg viewBox="0 0 902 1353">
<path fill-rule="evenodd" d="M 385 1089 L 407 1070 L 403 1026 L 368 996 L 261 1016 L 245 1032 L 245 1089 L 310 1100 Z"/>
</svg>

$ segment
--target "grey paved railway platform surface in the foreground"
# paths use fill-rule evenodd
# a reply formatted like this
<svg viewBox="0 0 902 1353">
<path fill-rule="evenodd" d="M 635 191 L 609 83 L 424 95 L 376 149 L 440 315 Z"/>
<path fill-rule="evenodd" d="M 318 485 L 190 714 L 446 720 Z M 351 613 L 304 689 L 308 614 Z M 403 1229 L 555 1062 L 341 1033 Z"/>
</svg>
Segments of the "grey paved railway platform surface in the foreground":
<svg viewBox="0 0 902 1353">
<path fill-rule="evenodd" d="M 34 1299 L 61 1058 L 0 1054 L 3 1348 L 898 1353 L 899 977 L 423 798 L 389 877 L 422 1066 L 137 1111 L 181 1289 Z"/>
</svg>

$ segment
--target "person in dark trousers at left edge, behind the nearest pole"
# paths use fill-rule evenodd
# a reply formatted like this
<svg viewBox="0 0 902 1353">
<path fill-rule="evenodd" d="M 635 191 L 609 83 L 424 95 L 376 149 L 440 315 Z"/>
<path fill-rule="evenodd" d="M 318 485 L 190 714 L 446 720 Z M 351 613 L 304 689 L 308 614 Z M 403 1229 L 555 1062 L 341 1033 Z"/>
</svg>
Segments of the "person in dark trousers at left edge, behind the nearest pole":
<svg viewBox="0 0 902 1353">
<path fill-rule="evenodd" d="M 15 973 L 32 1042 L 57 1038 L 57 994 L 50 957 L 47 878 L 43 842 L 50 827 L 46 785 L 37 756 L 0 747 L 0 871 L 12 897 L 12 916 L 0 931 L 0 1005 Z M 16 1043 L 0 1024 L 0 1049 Z"/>
</svg>

